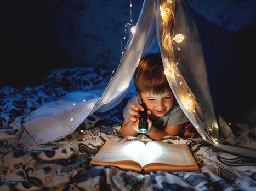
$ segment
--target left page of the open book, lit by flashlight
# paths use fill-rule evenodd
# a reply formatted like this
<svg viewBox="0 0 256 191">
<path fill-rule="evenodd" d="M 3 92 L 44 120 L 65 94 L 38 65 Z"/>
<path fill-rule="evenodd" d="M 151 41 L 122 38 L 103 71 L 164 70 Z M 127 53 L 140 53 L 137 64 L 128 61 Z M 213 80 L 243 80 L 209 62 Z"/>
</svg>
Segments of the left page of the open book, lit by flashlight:
<svg viewBox="0 0 256 191">
<path fill-rule="evenodd" d="M 93 160 L 115 162 L 122 160 L 134 160 L 140 165 L 143 164 L 145 144 L 140 141 L 117 142 L 108 140 Z"/>
</svg>

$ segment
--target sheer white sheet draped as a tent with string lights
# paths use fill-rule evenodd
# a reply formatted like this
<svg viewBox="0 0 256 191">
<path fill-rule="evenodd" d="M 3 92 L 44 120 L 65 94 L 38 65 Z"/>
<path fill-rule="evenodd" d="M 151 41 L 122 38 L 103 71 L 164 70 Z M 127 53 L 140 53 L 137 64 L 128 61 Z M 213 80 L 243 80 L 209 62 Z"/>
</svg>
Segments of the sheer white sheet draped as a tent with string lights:
<svg viewBox="0 0 256 191">
<path fill-rule="evenodd" d="M 248 149 L 253 148 L 253 140 L 248 148 L 237 142 L 240 147 L 230 146 L 235 140 L 232 131 L 221 116 L 214 114 L 200 35 L 183 0 L 144 1 L 136 32 L 129 38 L 116 73 L 101 97 L 90 99 L 88 92 L 86 99 L 59 100 L 19 118 L 14 123 L 18 142 L 58 140 L 72 133 L 93 112 L 115 107 L 133 89 L 133 74 L 140 58 L 157 51 L 161 52 L 164 73 L 175 98 L 203 139 L 223 150 L 256 157 L 256 151 Z M 225 141 L 227 138 L 229 141 Z"/>
</svg>

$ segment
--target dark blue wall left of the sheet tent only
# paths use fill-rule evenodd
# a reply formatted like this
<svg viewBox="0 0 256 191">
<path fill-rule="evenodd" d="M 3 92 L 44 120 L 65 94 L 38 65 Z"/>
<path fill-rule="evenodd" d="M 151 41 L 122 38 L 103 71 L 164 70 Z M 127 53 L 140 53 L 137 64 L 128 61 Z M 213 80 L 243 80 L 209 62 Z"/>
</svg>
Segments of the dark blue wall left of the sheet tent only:
<svg viewBox="0 0 256 191">
<path fill-rule="evenodd" d="M 132 2 L 134 25 L 142 4 Z M 38 82 L 53 68 L 116 68 L 128 22 L 130 1 L 0 1 L 1 86 Z"/>
</svg>

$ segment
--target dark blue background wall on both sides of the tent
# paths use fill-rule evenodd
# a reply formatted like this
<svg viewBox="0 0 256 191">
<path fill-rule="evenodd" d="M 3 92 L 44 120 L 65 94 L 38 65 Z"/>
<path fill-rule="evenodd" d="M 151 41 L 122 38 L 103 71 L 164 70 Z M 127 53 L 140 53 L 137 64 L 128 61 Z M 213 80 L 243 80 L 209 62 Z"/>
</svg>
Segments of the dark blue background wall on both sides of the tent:
<svg viewBox="0 0 256 191">
<path fill-rule="evenodd" d="M 255 1 L 187 3 L 201 34 L 215 108 L 240 117 L 241 106 L 255 103 Z M 132 1 L 133 25 L 142 4 Z M 128 22 L 129 0 L 1 0 L 0 88 L 39 84 L 55 68 L 115 69 Z"/>
</svg>

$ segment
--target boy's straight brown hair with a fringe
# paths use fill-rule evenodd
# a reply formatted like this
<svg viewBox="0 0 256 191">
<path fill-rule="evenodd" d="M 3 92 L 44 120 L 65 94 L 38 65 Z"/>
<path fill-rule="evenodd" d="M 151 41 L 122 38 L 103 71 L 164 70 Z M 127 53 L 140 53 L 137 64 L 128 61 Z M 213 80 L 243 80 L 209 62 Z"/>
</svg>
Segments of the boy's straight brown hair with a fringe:
<svg viewBox="0 0 256 191">
<path fill-rule="evenodd" d="M 151 53 L 140 59 L 134 73 L 134 82 L 137 92 L 162 94 L 171 91 L 164 74 L 160 53 Z"/>
</svg>

